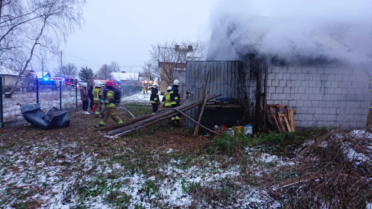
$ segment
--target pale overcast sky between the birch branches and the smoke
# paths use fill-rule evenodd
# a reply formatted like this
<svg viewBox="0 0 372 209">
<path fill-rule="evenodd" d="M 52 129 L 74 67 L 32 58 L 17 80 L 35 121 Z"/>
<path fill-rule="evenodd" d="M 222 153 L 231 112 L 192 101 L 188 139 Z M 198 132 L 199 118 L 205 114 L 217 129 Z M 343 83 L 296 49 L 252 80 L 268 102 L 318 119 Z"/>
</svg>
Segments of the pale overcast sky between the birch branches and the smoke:
<svg viewBox="0 0 372 209">
<path fill-rule="evenodd" d="M 61 44 L 62 60 L 78 68 L 87 65 L 93 71 L 111 61 L 118 62 L 122 71 L 130 71 L 126 66 L 137 66 L 132 72 L 141 71 L 151 44 L 166 39 L 209 39 L 211 2 L 88 0 L 86 24 Z M 59 65 L 57 57 L 46 59 L 49 71 Z"/>
</svg>

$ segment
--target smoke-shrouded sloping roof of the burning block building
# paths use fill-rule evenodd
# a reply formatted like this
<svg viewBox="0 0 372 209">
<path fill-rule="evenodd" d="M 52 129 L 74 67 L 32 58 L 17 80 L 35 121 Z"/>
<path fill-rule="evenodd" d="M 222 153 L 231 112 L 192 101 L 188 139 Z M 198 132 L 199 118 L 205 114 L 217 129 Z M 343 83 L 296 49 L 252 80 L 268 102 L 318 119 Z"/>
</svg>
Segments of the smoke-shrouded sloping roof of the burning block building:
<svg viewBox="0 0 372 209">
<path fill-rule="evenodd" d="M 349 61 L 371 62 L 371 26 L 335 22 L 311 23 L 263 16 L 228 14 L 214 26 L 207 60 L 237 60 L 258 54 L 296 59 L 328 55 Z M 294 30 L 294 26 L 297 26 Z"/>
</svg>

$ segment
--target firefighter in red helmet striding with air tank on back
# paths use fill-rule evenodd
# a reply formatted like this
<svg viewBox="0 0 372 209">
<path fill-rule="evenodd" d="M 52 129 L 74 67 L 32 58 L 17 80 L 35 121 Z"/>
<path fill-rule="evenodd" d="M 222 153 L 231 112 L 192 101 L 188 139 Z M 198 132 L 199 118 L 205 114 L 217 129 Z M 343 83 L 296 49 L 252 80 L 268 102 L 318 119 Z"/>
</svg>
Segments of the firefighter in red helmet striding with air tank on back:
<svg viewBox="0 0 372 209">
<path fill-rule="evenodd" d="M 107 81 L 106 82 L 106 88 L 104 90 L 104 102 L 105 102 L 105 115 L 103 117 L 103 120 L 99 122 L 99 125 L 94 126 L 95 128 L 103 127 L 106 125 L 107 120 L 109 117 L 112 118 L 116 123 L 121 124 L 123 121 L 116 115 L 116 104 L 115 104 L 115 92 L 113 91 L 115 89 L 116 82 L 115 81 Z"/>
</svg>

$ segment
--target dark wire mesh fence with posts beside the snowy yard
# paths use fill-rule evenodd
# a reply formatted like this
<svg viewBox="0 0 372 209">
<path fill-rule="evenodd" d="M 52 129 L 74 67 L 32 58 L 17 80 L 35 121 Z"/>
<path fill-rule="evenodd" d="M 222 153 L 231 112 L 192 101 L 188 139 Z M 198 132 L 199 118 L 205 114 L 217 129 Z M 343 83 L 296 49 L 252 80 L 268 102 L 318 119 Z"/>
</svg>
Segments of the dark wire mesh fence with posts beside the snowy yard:
<svg viewBox="0 0 372 209">
<path fill-rule="evenodd" d="M 54 85 L 42 85 L 37 79 L 24 79 L 15 85 L 16 79 L 0 77 L 0 127 L 23 121 L 20 104 L 40 104 L 41 110 L 52 107 L 60 110 L 81 110 L 80 88 L 65 86 L 62 81 Z M 15 87 L 14 87 L 15 86 Z M 89 86 L 89 85 L 87 85 Z M 13 90 L 13 93 L 10 92 Z M 121 86 L 121 96 L 140 92 L 141 86 Z"/>
</svg>

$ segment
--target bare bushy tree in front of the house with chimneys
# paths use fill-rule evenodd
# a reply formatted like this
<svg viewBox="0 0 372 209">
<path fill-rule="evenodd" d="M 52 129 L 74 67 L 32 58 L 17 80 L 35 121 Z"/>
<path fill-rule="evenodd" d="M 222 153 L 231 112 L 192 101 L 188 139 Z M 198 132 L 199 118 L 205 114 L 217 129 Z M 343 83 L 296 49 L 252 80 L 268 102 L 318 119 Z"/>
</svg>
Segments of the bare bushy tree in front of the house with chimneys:
<svg viewBox="0 0 372 209">
<path fill-rule="evenodd" d="M 185 68 L 186 61 L 205 60 L 206 52 L 206 42 L 200 39 L 158 42 L 151 45 L 150 60 L 145 62 L 144 71 L 152 79 L 158 77 L 169 85 L 173 83 L 174 70 Z"/>
</svg>

